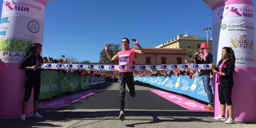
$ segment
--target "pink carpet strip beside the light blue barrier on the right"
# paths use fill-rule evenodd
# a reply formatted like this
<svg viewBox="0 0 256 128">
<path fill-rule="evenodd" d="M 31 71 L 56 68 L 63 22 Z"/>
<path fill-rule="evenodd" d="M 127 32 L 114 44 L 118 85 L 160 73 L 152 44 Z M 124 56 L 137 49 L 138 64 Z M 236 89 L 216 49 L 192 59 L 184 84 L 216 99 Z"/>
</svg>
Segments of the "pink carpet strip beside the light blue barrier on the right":
<svg viewBox="0 0 256 128">
<path fill-rule="evenodd" d="M 187 98 L 180 97 L 178 95 L 174 95 L 174 94 L 164 92 L 161 90 L 150 90 L 150 91 L 165 98 L 166 100 L 169 100 L 173 103 L 176 103 L 177 105 L 180 105 L 181 107 L 187 108 L 188 110 L 208 111 L 208 110 L 203 109 L 203 106 L 205 106 L 205 105 L 202 103 L 198 103 L 193 100 L 189 100 Z"/>
</svg>

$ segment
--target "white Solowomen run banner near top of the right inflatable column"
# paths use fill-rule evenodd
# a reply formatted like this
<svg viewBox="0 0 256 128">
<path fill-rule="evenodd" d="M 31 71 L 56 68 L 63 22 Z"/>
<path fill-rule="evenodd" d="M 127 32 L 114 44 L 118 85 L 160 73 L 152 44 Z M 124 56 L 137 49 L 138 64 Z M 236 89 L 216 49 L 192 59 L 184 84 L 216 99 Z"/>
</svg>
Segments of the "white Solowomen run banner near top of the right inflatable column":
<svg viewBox="0 0 256 128">
<path fill-rule="evenodd" d="M 232 4 L 213 10 L 213 25 L 220 22 L 245 21 L 254 23 L 254 9 L 252 5 Z"/>
</svg>

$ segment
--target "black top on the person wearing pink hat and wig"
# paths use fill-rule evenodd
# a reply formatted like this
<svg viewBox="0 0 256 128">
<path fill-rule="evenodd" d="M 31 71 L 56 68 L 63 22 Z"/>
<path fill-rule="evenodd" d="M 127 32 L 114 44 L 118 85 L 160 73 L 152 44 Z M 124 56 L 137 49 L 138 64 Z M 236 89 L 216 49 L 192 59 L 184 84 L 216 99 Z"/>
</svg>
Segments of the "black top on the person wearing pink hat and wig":
<svg viewBox="0 0 256 128">
<path fill-rule="evenodd" d="M 212 64 L 212 54 L 208 53 L 205 60 L 202 59 L 202 61 L 195 57 L 195 64 Z M 208 69 L 201 69 L 200 72 L 200 75 L 210 75 L 210 73 L 212 74 L 212 70 Z"/>
</svg>

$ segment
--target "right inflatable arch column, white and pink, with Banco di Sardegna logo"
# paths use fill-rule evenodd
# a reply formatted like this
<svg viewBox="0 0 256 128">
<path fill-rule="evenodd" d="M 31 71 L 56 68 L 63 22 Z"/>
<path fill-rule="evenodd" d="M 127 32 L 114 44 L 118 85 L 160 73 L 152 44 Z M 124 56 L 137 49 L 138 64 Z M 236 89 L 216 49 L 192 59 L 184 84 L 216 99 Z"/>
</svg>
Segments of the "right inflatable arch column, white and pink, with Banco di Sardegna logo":
<svg viewBox="0 0 256 128">
<path fill-rule="evenodd" d="M 203 0 L 203 2 L 213 11 L 213 62 L 217 64 L 220 61 L 223 47 L 231 47 L 235 51 L 233 117 L 235 121 L 254 122 L 256 121 L 256 49 L 253 2 L 252 0 Z M 220 114 L 218 84 L 215 84 L 214 116 Z M 226 117 L 228 117 L 227 110 Z"/>
</svg>

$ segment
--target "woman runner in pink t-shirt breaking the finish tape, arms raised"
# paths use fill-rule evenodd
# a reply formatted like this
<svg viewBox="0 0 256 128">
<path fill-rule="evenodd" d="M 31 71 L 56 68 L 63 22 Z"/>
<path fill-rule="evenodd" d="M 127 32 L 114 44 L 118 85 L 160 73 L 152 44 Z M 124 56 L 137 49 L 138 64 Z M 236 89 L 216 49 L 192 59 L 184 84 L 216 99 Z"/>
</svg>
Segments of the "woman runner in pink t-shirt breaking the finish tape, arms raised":
<svg viewBox="0 0 256 128">
<path fill-rule="evenodd" d="M 105 44 L 106 48 L 105 51 L 107 53 L 108 58 L 110 61 L 115 61 L 119 59 L 119 65 L 132 65 L 133 64 L 133 57 L 136 54 L 145 54 L 144 49 L 138 44 L 136 39 L 132 39 L 133 44 L 138 46 L 139 50 L 137 49 L 130 49 L 129 44 L 130 41 L 128 38 L 123 38 L 121 41 L 121 45 L 123 50 L 118 52 L 115 56 L 111 56 L 108 52 L 108 45 Z M 135 86 L 133 80 L 133 71 L 118 71 L 118 83 L 119 83 L 119 90 L 120 90 L 120 98 L 119 98 L 119 106 L 120 106 L 120 115 L 119 118 L 121 121 L 125 120 L 124 115 L 124 106 L 125 106 L 125 84 L 128 86 L 128 91 L 130 92 L 131 97 L 135 97 Z"/>
</svg>

